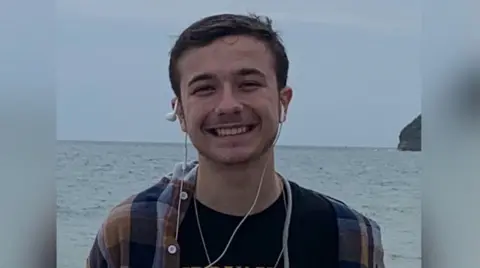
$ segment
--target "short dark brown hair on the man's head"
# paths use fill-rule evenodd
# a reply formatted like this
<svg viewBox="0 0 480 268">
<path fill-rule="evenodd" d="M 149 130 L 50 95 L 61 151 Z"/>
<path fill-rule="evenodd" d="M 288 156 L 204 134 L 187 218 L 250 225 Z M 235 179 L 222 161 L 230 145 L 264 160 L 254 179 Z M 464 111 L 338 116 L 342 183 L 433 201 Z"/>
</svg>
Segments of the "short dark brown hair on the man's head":
<svg viewBox="0 0 480 268">
<path fill-rule="evenodd" d="M 168 67 L 170 84 L 178 98 L 180 98 L 180 74 L 177 63 L 180 57 L 190 49 L 204 47 L 219 38 L 232 35 L 248 35 L 264 42 L 275 61 L 278 87 L 282 89 L 286 86 L 289 60 L 278 32 L 273 29 L 272 20 L 254 14 L 219 14 L 191 24 L 180 34 L 170 51 Z"/>
</svg>

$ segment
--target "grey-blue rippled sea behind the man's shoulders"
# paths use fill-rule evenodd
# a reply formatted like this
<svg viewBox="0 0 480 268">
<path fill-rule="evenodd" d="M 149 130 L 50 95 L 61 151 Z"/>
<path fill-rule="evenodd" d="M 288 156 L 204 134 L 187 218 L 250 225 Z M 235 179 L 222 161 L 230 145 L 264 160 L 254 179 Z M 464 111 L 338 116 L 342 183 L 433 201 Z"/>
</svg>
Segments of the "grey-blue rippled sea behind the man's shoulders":
<svg viewBox="0 0 480 268">
<path fill-rule="evenodd" d="M 288 179 L 377 221 L 386 267 L 420 268 L 420 156 L 385 148 L 277 146 L 276 165 Z M 85 268 L 109 209 L 156 183 L 182 159 L 182 144 L 59 141 L 58 267 Z"/>
</svg>

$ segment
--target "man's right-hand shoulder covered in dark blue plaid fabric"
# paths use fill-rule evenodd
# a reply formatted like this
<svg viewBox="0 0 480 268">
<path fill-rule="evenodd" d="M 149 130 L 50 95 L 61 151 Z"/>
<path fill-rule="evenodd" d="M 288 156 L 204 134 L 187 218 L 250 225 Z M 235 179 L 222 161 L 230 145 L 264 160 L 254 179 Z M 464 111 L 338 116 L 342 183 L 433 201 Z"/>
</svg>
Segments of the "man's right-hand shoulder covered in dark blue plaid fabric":
<svg viewBox="0 0 480 268">
<path fill-rule="evenodd" d="M 309 206 L 328 202 L 335 213 L 338 228 L 340 267 L 363 265 L 368 268 L 384 268 L 380 226 L 377 222 L 345 202 L 317 191 L 293 184 Z"/>
</svg>

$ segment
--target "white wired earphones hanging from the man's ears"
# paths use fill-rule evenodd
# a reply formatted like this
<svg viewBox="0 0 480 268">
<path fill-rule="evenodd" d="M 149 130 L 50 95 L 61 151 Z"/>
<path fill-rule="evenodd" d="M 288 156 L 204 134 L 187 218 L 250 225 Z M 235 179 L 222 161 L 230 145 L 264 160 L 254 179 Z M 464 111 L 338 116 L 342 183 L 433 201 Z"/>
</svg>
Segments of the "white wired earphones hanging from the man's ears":
<svg viewBox="0 0 480 268">
<path fill-rule="evenodd" d="M 178 110 L 178 99 L 175 100 L 173 110 L 165 115 L 165 119 L 167 121 L 170 121 L 170 122 L 175 122 L 175 120 L 177 120 L 177 110 Z M 279 122 L 277 136 L 276 136 L 275 141 L 273 142 L 272 146 L 275 146 L 275 144 L 277 143 L 278 138 L 280 137 L 280 133 L 282 131 L 282 125 L 285 122 L 285 120 L 286 120 L 285 108 L 284 108 L 283 104 L 280 103 L 280 122 Z M 187 166 L 187 133 L 185 133 L 184 150 L 185 150 L 185 153 L 184 153 L 184 159 L 183 159 L 183 171 L 184 171 L 183 175 L 185 176 L 185 168 Z M 225 249 L 223 250 L 222 254 L 220 254 L 220 256 L 215 261 L 208 264 L 205 268 L 211 268 L 213 265 L 215 265 L 217 262 L 219 262 L 222 259 L 222 257 L 225 255 L 228 248 L 230 247 L 230 244 L 232 243 L 233 238 L 237 234 L 237 231 L 240 229 L 242 224 L 248 218 L 250 213 L 252 213 L 255 205 L 257 204 L 258 197 L 260 196 L 260 189 L 262 188 L 262 185 L 263 185 L 263 178 L 265 176 L 265 171 L 266 170 L 267 170 L 267 164 L 265 164 L 265 167 L 263 168 L 262 177 L 260 178 L 260 183 L 258 185 L 257 194 L 255 196 L 255 199 L 253 200 L 252 206 L 248 210 L 247 214 L 240 221 L 240 223 L 238 223 L 237 227 L 235 228 L 232 235 L 230 236 L 230 239 L 229 239 L 227 245 L 225 246 Z M 285 185 L 286 198 L 287 198 L 287 212 L 286 212 L 286 216 L 285 216 L 285 222 L 284 222 L 284 225 L 283 225 L 283 237 L 282 237 L 282 242 L 283 242 L 283 249 L 282 249 L 282 252 L 283 252 L 283 267 L 284 268 L 289 268 L 290 267 L 290 260 L 289 260 L 289 254 L 288 254 L 288 235 L 289 235 L 289 230 L 290 230 L 290 222 L 291 222 L 291 218 L 292 218 L 292 207 L 293 207 L 293 205 L 292 205 L 292 189 L 291 189 L 290 183 L 287 181 L 287 179 L 283 178 L 282 176 L 279 176 L 279 177 L 283 180 L 283 183 Z M 179 196 L 178 196 L 177 232 L 176 232 L 176 235 L 175 235 L 175 239 L 177 241 L 178 241 L 178 232 L 179 232 L 179 229 L 180 229 L 180 208 L 181 208 L 181 203 L 182 203 L 182 198 L 181 198 L 180 195 L 182 194 L 182 192 L 183 192 L 183 178 L 182 178 L 181 183 L 180 183 L 180 191 L 179 191 Z M 204 245 L 204 247 L 206 247 L 206 245 Z"/>
</svg>

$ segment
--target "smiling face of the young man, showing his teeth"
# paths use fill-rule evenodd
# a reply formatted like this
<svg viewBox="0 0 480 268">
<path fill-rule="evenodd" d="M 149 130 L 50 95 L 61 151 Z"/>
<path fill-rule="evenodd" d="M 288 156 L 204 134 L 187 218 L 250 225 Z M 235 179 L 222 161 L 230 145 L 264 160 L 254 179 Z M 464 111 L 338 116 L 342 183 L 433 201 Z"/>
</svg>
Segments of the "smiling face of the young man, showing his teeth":
<svg viewBox="0 0 480 268">
<path fill-rule="evenodd" d="M 276 137 L 280 105 L 291 88 L 278 90 L 274 59 L 264 43 L 227 36 L 188 50 L 178 61 L 182 130 L 201 156 L 222 164 L 254 160 Z"/>
</svg>

